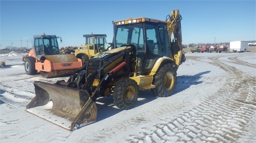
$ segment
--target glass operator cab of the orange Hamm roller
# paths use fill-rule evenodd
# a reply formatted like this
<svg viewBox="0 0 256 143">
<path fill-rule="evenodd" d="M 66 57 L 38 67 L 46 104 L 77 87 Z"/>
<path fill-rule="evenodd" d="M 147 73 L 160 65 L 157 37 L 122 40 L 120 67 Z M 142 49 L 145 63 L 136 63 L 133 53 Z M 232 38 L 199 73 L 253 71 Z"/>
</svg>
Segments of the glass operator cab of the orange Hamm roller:
<svg viewBox="0 0 256 143">
<path fill-rule="evenodd" d="M 34 50 L 36 58 L 42 55 L 59 55 L 59 47 L 56 35 L 34 35 Z"/>
</svg>

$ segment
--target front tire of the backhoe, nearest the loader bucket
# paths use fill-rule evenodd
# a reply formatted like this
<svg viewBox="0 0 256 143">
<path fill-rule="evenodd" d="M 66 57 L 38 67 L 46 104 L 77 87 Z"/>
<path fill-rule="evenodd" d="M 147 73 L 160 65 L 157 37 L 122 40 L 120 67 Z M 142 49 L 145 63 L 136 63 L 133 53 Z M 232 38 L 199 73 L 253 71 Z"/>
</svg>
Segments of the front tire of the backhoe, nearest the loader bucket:
<svg viewBox="0 0 256 143">
<path fill-rule="evenodd" d="M 123 110 L 129 110 L 138 101 L 139 88 L 137 82 L 130 78 L 122 78 L 117 82 L 113 93 L 115 106 Z"/>
</svg>

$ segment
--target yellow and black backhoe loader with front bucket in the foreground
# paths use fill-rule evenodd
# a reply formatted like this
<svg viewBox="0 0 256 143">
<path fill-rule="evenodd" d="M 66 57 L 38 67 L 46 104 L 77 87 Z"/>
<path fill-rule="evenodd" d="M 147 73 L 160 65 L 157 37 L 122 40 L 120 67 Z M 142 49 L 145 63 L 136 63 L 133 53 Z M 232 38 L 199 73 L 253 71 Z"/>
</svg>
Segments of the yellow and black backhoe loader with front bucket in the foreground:
<svg viewBox="0 0 256 143">
<path fill-rule="evenodd" d="M 171 96 L 177 69 L 185 61 L 180 21 L 179 10 L 174 10 L 166 21 L 129 18 L 113 22 L 112 49 L 89 59 L 67 81 L 35 81 L 36 96 L 26 111 L 72 131 L 96 121 L 99 97 L 113 96 L 118 108 L 129 110 L 139 90 Z"/>
</svg>

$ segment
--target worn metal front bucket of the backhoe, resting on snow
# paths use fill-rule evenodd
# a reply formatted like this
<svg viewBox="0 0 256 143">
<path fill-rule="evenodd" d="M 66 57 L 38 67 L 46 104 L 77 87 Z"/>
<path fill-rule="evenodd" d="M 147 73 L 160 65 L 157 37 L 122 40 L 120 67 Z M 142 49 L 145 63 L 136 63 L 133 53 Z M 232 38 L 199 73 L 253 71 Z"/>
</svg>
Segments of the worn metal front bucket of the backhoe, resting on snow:
<svg viewBox="0 0 256 143">
<path fill-rule="evenodd" d="M 97 106 L 86 90 L 46 82 L 34 82 L 36 96 L 26 111 L 69 131 L 91 124 Z"/>
</svg>

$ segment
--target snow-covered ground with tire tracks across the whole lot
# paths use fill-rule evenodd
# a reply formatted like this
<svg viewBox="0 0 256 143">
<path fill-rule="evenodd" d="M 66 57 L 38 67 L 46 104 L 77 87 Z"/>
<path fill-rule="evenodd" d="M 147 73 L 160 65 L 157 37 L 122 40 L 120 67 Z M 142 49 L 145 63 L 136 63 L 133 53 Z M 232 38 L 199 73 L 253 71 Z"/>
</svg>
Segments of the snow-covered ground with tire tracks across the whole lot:
<svg viewBox="0 0 256 143">
<path fill-rule="evenodd" d="M 15 52 L 0 55 L 0 142 L 172 143 L 256 141 L 256 53 L 186 53 L 172 96 L 141 91 L 131 110 L 99 98 L 97 121 L 67 131 L 26 112 L 34 81 Z"/>
</svg>

